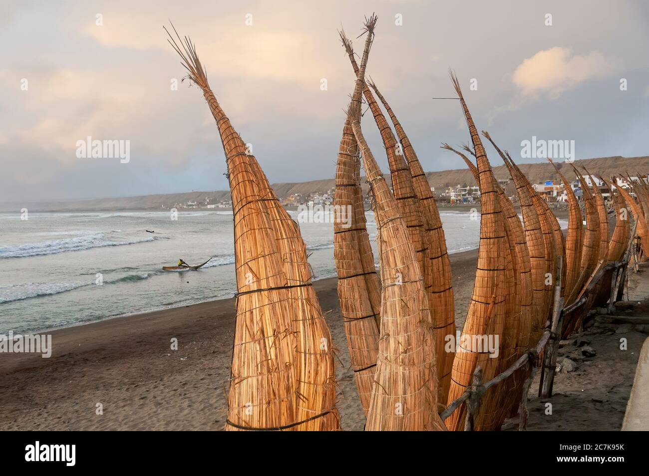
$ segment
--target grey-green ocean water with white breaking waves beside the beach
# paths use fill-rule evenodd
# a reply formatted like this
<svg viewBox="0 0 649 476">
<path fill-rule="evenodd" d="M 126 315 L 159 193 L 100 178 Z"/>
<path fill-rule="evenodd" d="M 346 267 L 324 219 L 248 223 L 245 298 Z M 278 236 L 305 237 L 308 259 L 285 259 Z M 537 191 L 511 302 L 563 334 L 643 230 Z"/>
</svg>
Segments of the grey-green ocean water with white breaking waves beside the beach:
<svg viewBox="0 0 649 476">
<path fill-rule="evenodd" d="M 478 246 L 480 220 L 466 212 L 441 218 L 449 252 Z M 374 239 L 373 213 L 367 220 Z M 336 276 L 333 224 L 312 221 L 300 230 L 315 279 Z M 28 220 L 0 213 L 0 333 L 230 298 L 232 228 L 228 211 L 179 212 L 177 220 L 168 211 L 30 213 Z M 179 257 L 196 265 L 210 256 L 200 270 L 162 270 Z"/>
</svg>

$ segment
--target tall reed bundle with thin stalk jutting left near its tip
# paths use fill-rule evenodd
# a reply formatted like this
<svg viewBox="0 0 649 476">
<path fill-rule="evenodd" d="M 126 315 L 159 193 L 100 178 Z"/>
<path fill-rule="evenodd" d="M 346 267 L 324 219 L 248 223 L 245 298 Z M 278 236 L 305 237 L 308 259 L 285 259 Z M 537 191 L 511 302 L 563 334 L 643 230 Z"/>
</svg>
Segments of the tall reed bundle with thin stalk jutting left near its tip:
<svg viewBox="0 0 649 476">
<path fill-rule="evenodd" d="M 490 358 L 489 353 L 480 348 L 484 336 L 493 336 L 501 342 L 504 320 L 506 317 L 506 296 L 509 288 L 506 282 L 506 267 L 509 256 L 509 243 L 505 235 L 505 218 L 498 201 L 498 193 L 494 187 L 491 165 L 487 160 L 485 149 L 474 125 L 471 113 L 467 107 L 458 78 L 450 73 L 453 86 L 467 121 L 471 134 L 473 148 L 478 163 L 480 178 L 480 200 L 482 214 L 480 217 L 480 245 L 478 248 L 478 267 L 474 282 L 469 311 L 462 329 L 460 346 L 453 362 L 451 386 L 448 392 L 448 401 L 453 401 L 463 394 L 471 385 L 472 375 L 476 367 L 482 368 L 484 380 L 496 375 L 499 358 Z M 500 354 L 499 354 L 500 355 Z M 496 392 L 491 398 L 496 396 Z M 488 395 L 485 399 L 491 399 Z M 474 420 L 477 429 L 493 429 L 497 425 L 497 414 L 486 403 L 481 405 L 480 411 Z M 464 424 L 465 405 L 461 405 L 448 417 L 449 429 L 459 430 Z"/>
</svg>

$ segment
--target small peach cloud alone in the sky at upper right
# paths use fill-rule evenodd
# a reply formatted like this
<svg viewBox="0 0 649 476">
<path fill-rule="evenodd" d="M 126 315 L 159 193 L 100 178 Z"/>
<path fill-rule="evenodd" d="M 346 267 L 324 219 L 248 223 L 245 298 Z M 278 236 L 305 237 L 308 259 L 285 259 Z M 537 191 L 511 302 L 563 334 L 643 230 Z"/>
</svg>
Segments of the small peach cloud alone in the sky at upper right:
<svg viewBox="0 0 649 476">
<path fill-rule="evenodd" d="M 541 50 L 526 58 L 512 75 L 513 83 L 524 96 L 546 93 L 556 99 L 582 82 L 605 77 L 615 71 L 613 60 L 599 51 L 580 56 L 569 48 Z"/>
</svg>

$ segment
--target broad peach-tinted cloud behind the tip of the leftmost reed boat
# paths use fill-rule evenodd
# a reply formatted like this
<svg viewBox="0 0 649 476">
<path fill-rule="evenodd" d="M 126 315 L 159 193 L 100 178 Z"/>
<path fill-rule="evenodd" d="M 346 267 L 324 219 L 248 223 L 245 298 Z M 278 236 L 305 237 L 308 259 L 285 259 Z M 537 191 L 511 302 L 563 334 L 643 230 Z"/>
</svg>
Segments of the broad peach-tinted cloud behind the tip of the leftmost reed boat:
<svg viewBox="0 0 649 476">
<path fill-rule="evenodd" d="M 339 55 L 323 51 L 315 36 L 297 30 L 295 25 L 278 29 L 276 25 L 280 21 L 275 16 L 254 16 L 253 25 L 248 27 L 243 14 L 228 15 L 228 21 L 219 27 L 217 34 L 211 23 L 197 23 L 191 18 L 185 19 L 185 16 L 174 24 L 181 35 L 191 32 L 191 39 L 196 43 L 210 77 L 215 73 L 220 78 L 240 80 L 248 77 L 289 82 L 305 90 L 317 90 L 321 78 L 332 81 L 349 77 L 341 75 L 339 69 L 323 67 L 323 54 L 327 54 L 328 58 L 325 58 L 330 60 L 330 64 L 336 64 L 334 60 Z M 169 21 L 160 14 L 152 16 L 149 8 L 141 10 L 134 6 L 129 11 L 106 12 L 103 22 L 102 26 L 86 22 L 82 33 L 104 47 L 162 51 L 178 60 L 162 29 L 165 25 L 175 36 Z"/>
</svg>

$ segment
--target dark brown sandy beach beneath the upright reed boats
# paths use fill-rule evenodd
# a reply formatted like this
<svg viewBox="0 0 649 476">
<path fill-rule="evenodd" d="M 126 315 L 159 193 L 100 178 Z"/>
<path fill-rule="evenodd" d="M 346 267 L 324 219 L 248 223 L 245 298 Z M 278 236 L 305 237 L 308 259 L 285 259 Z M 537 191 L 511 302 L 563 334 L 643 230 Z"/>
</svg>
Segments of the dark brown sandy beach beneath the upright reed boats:
<svg viewBox="0 0 649 476">
<path fill-rule="evenodd" d="M 454 254 L 456 324 L 470 300 L 477 251 Z M 343 430 L 361 430 L 356 394 L 336 294 L 336 279 L 315 281 L 339 364 L 337 407 Z M 234 335 L 234 300 L 216 300 L 57 329 L 49 359 L 35 354 L 0 357 L 0 418 L 20 430 L 223 429 Z M 622 424 L 643 334 L 594 327 L 597 356 L 570 374 L 558 374 L 555 417 L 530 402 L 530 427 L 608 429 Z M 611 337 L 612 335 L 612 337 Z M 629 350 L 621 353 L 620 337 Z M 171 340 L 178 350 L 171 350 Z M 572 338 L 572 340 L 577 337 Z M 634 361 L 635 359 L 635 361 Z M 606 381 L 606 385 L 600 385 Z M 533 396 L 532 388 L 530 396 Z M 604 407 L 604 408 L 602 408 Z M 101 412 L 98 410 L 101 409 Z"/>
</svg>

